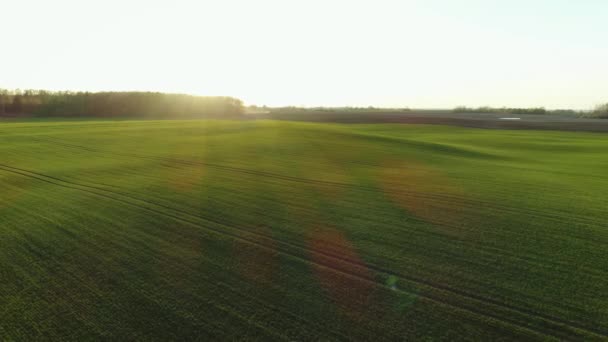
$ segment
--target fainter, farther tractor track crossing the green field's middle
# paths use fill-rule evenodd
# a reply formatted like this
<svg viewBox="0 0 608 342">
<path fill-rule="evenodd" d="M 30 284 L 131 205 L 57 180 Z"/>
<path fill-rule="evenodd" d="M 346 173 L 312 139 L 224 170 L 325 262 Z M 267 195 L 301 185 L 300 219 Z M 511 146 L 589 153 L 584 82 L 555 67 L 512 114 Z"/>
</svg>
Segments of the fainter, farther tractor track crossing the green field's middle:
<svg viewBox="0 0 608 342">
<path fill-rule="evenodd" d="M 431 200 L 431 201 L 437 201 L 437 202 L 443 201 L 444 203 L 457 202 L 459 204 L 467 204 L 469 207 L 474 207 L 474 208 L 486 207 L 486 208 L 490 208 L 490 209 L 493 209 L 496 211 L 507 212 L 510 214 L 516 214 L 516 215 L 525 214 L 525 215 L 529 215 L 531 217 L 541 217 L 541 218 L 546 218 L 546 219 L 559 221 L 559 222 L 562 222 L 563 220 L 568 219 L 570 221 L 576 221 L 577 223 L 581 223 L 581 224 L 585 224 L 585 225 L 593 225 L 593 226 L 597 226 L 598 224 L 603 223 L 603 222 L 598 222 L 598 221 L 588 219 L 588 218 L 572 217 L 571 215 L 560 215 L 558 213 L 547 213 L 547 212 L 542 212 L 539 210 L 534 210 L 534 209 L 529 209 L 529 208 L 524 209 L 524 208 L 515 208 L 515 207 L 511 207 L 511 206 L 506 206 L 506 205 L 497 205 L 495 203 L 491 203 L 488 201 L 472 199 L 472 198 L 464 198 L 464 197 L 452 196 L 452 195 L 446 195 L 446 194 L 436 194 L 436 193 L 427 194 L 427 193 L 411 191 L 411 190 L 403 190 L 403 189 L 399 189 L 398 191 L 384 190 L 384 189 L 379 190 L 377 188 L 370 187 L 370 186 L 361 186 L 361 185 L 349 184 L 349 183 L 340 183 L 340 182 L 323 181 L 323 180 L 316 180 L 316 179 L 309 179 L 309 178 L 293 177 L 293 176 L 281 175 L 281 174 L 272 173 L 272 172 L 257 171 L 257 170 L 247 169 L 247 168 L 219 165 L 219 164 L 214 164 L 214 163 L 197 162 L 197 161 L 183 160 L 183 159 L 177 159 L 177 158 L 152 157 L 152 156 L 140 155 L 140 154 L 136 154 L 136 153 L 109 152 L 109 151 L 104 151 L 101 149 L 89 148 L 89 147 L 76 145 L 76 144 L 58 142 L 58 141 L 56 141 L 56 139 L 48 139 L 48 140 L 36 139 L 36 140 L 41 141 L 41 142 L 51 142 L 51 143 L 54 143 L 57 145 L 65 146 L 65 147 L 82 149 L 87 152 L 93 152 L 93 153 L 102 154 L 102 155 L 139 158 L 139 159 L 145 159 L 145 160 L 161 161 L 161 162 L 182 164 L 182 165 L 188 165 L 188 166 L 211 167 L 211 168 L 224 170 L 224 171 L 236 172 L 236 173 L 241 173 L 241 174 L 249 174 L 252 176 L 265 177 L 268 179 L 279 179 L 279 180 L 285 180 L 285 181 L 291 181 L 291 182 L 297 182 L 297 183 L 303 183 L 303 184 L 317 184 L 317 185 L 324 185 L 324 186 L 334 186 L 334 187 L 349 188 L 349 189 L 374 192 L 374 193 L 407 195 L 407 196 L 423 198 L 423 199 L 427 199 L 427 200 Z"/>
</svg>

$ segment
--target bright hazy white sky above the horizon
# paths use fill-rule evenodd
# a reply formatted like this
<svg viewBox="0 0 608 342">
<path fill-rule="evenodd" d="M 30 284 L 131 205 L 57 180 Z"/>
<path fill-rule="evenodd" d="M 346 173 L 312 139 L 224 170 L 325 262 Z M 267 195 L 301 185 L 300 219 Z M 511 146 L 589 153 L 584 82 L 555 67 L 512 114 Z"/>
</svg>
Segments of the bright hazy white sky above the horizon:
<svg viewBox="0 0 608 342">
<path fill-rule="evenodd" d="M 0 0 L 0 87 L 590 108 L 606 0 Z"/>
</svg>

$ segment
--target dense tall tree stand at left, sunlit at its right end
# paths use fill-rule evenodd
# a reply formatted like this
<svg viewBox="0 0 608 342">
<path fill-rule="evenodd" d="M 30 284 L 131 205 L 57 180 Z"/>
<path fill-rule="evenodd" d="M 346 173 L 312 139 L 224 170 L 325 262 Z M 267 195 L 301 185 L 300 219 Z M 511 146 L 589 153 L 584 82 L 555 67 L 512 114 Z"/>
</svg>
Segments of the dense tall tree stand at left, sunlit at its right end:
<svg viewBox="0 0 608 342">
<path fill-rule="evenodd" d="M 0 116 L 237 118 L 243 113 L 243 102 L 226 96 L 0 89 Z"/>
</svg>

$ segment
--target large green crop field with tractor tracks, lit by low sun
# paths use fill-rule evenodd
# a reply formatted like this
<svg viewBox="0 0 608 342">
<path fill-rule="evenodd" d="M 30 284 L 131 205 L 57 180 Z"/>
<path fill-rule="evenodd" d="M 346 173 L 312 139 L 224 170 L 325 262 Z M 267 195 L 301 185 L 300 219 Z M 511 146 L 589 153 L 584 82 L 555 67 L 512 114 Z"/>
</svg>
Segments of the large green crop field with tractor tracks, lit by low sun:
<svg viewBox="0 0 608 342">
<path fill-rule="evenodd" d="M 608 136 L 0 123 L 0 340 L 608 338 Z"/>
</svg>

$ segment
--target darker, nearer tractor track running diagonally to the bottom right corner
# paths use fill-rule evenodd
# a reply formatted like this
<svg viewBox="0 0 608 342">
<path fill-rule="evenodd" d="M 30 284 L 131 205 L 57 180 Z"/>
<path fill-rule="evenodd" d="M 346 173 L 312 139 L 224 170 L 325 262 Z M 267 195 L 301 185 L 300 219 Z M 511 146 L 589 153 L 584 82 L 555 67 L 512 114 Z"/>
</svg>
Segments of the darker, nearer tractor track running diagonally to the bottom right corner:
<svg viewBox="0 0 608 342">
<path fill-rule="evenodd" d="M 246 243 L 256 245 L 256 246 L 264 248 L 264 249 L 275 250 L 275 249 L 277 249 L 276 246 L 283 245 L 283 247 L 280 247 L 280 253 L 283 253 L 286 256 L 290 256 L 301 262 L 315 263 L 315 262 L 310 261 L 309 258 L 307 258 L 307 255 L 311 252 L 309 249 L 303 248 L 303 247 L 293 244 L 293 243 L 280 241 L 280 240 L 269 238 L 267 236 L 264 236 L 264 235 L 261 235 L 258 233 L 244 231 L 242 229 L 238 229 L 235 227 L 230 227 L 222 222 L 212 221 L 208 218 L 202 218 L 202 217 L 193 215 L 188 212 L 183 212 L 183 211 L 180 211 L 180 210 L 177 210 L 177 209 L 174 209 L 171 207 L 167 207 L 167 206 L 164 206 L 164 205 L 161 205 L 158 203 L 150 202 L 150 201 L 140 199 L 140 198 L 130 196 L 130 195 L 117 193 L 117 192 L 114 192 L 111 190 L 107 190 L 107 189 L 103 189 L 103 188 L 99 188 L 99 187 L 93 187 L 90 185 L 85 185 L 85 184 L 80 184 L 80 183 L 74 183 L 74 182 L 66 181 L 66 180 L 63 180 L 60 178 L 55 178 L 52 176 L 44 175 L 41 173 L 35 173 L 35 172 L 29 171 L 29 170 L 14 168 L 12 166 L 4 165 L 4 164 L 0 164 L 0 169 L 4 170 L 6 172 L 19 174 L 24 177 L 34 178 L 39 181 L 50 183 L 50 184 L 53 184 L 56 186 L 61 186 L 61 187 L 65 187 L 65 188 L 69 188 L 69 189 L 73 189 L 73 190 L 87 192 L 87 193 L 91 193 L 96 196 L 101 196 L 101 197 L 105 197 L 105 198 L 108 198 L 108 199 L 111 199 L 114 201 L 118 201 L 120 203 L 132 205 L 132 206 L 138 207 L 140 209 L 148 210 L 148 211 L 154 212 L 159 215 L 163 215 L 163 216 L 166 216 L 166 217 L 169 217 L 172 219 L 186 222 L 186 223 L 192 224 L 194 226 L 197 226 L 201 229 L 213 232 L 215 234 L 224 235 L 229 238 L 241 240 Z M 144 205 L 133 203 L 132 202 L 133 200 L 140 202 L 140 203 L 144 203 Z M 150 206 L 152 206 L 152 207 L 150 207 Z M 172 213 L 167 213 L 165 211 L 161 211 L 158 208 L 163 208 L 164 210 L 168 210 Z M 188 216 L 190 218 L 194 218 L 195 220 L 184 218 L 183 217 L 184 215 Z M 222 230 L 219 228 L 212 228 L 212 227 L 208 227 L 206 225 L 202 225 L 200 222 L 196 222 L 197 220 L 206 221 L 208 223 L 212 223 L 212 224 L 216 224 L 221 227 L 224 227 L 224 228 L 228 228 L 232 232 L 228 232 L 226 230 Z M 272 245 L 274 247 L 269 246 L 268 244 L 265 244 L 265 243 L 261 243 L 259 241 L 259 239 L 256 240 L 256 239 L 247 238 L 245 235 L 257 236 L 258 238 L 271 240 L 273 242 Z M 299 251 L 299 253 L 294 252 L 293 249 L 295 249 L 296 251 Z M 358 272 L 352 272 L 352 270 L 349 270 L 349 269 L 345 270 L 345 268 L 348 268 L 348 267 L 350 267 L 350 268 L 355 267 L 355 268 L 359 268 L 359 269 L 367 268 L 367 269 L 371 269 L 371 270 L 373 270 L 379 274 L 385 275 L 385 276 L 386 275 L 397 275 L 408 282 L 417 284 L 422 287 L 426 287 L 426 288 L 434 290 L 436 292 L 449 294 L 449 296 L 444 295 L 446 298 L 444 298 L 444 296 L 441 296 L 438 294 L 431 294 L 431 293 L 418 294 L 419 296 L 421 296 L 423 298 L 427 298 L 430 301 L 437 302 L 442 305 L 447 305 L 447 306 L 450 306 L 450 307 L 453 307 L 453 308 L 456 308 L 459 310 L 465 310 L 474 315 L 487 317 L 487 318 L 495 320 L 495 321 L 502 321 L 505 324 L 515 325 L 522 329 L 529 330 L 531 332 L 546 334 L 548 336 L 552 336 L 555 338 L 564 338 L 564 337 L 572 338 L 572 337 L 577 337 L 577 336 L 580 337 L 578 334 L 576 334 L 576 332 L 567 331 L 567 329 L 564 329 L 564 328 L 570 328 L 570 329 L 585 331 L 588 334 L 600 336 L 602 338 L 608 337 L 608 331 L 606 331 L 605 329 L 586 327 L 586 326 L 580 325 L 575 322 L 565 321 L 565 320 L 561 320 L 556 317 L 539 314 L 532 310 L 514 307 L 512 305 L 500 302 L 498 300 L 485 298 L 485 297 L 482 297 L 479 295 L 467 293 L 466 291 L 461 291 L 461 290 L 450 288 L 447 286 L 435 284 L 428 280 L 418 279 L 418 278 L 415 278 L 412 276 L 398 274 L 398 273 L 383 269 L 383 268 L 375 266 L 375 265 L 367 265 L 367 264 L 353 262 L 352 260 L 338 257 L 336 255 L 333 255 L 332 253 L 317 252 L 317 251 L 315 251 L 315 253 L 320 254 L 323 258 L 327 258 L 330 261 L 333 261 L 333 262 L 327 262 L 327 263 L 316 262 L 317 266 L 327 268 L 333 272 L 337 272 L 339 274 L 345 275 L 345 276 L 353 278 L 353 279 L 358 279 L 359 281 L 372 283 L 372 284 L 374 284 L 374 286 L 379 286 L 379 287 L 386 287 L 386 286 L 384 284 L 378 282 L 373 277 L 365 276 L 360 273 L 358 274 Z M 333 260 L 331 260 L 331 259 L 333 259 Z M 344 264 L 348 265 L 348 267 L 342 267 L 342 268 L 336 267 L 336 265 L 335 265 L 336 261 L 344 263 Z M 401 290 L 399 290 L 399 291 L 401 291 Z M 405 291 L 401 291 L 401 292 L 407 293 Z M 463 305 L 464 304 L 463 301 L 454 301 L 454 300 L 448 299 L 450 297 L 453 297 L 454 295 L 465 299 L 465 302 L 467 301 L 466 299 L 468 299 L 469 302 L 477 302 L 477 304 L 481 303 L 486 306 L 489 306 L 489 308 L 487 308 L 486 310 L 481 310 L 479 308 L 479 305 L 475 305 L 475 303 L 471 303 L 470 305 Z M 492 306 L 494 308 L 492 308 Z M 497 308 L 507 311 L 510 315 L 508 317 L 503 317 L 501 315 L 495 314 L 494 312 L 496 311 Z M 519 315 L 521 317 L 519 317 L 519 319 L 509 318 L 513 315 L 515 315 L 515 316 Z M 529 324 L 531 318 L 539 320 L 540 321 L 539 323 L 541 323 L 542 328 L 538 327 L 538 326 L 531 326 Z"/>
</svg>

